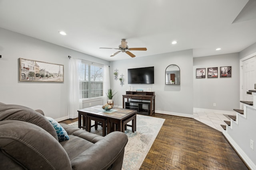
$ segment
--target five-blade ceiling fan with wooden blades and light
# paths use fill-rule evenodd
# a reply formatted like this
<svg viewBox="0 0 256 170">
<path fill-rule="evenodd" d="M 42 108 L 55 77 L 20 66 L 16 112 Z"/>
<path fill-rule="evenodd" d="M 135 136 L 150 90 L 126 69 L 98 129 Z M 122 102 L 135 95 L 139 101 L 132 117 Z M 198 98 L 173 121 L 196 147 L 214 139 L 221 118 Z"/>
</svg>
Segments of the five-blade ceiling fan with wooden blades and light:
<svg viewBox="0 0 256 170">
<path fill-rule="evenodd" d="M 130 55 L 131 57 L 135 57 L 136 55 L 132 54 L 130 52 L 130 50 L 139 50 L 139 51 L 146 51 L 147 48 L 128 48 L 127 42 L 125 41 L 126 39 L 121 39 L 121 45 L 119 45 L 118 49 L 117 48 L 104 48 L 104 47 L 100 47 L 100 49 L 116 49 L 116 50 L 120 50 L 117 51 L 116 53 L 110 55 L 110 57 L 113 57 L 115 55 L 117 55 L 118 53 L 122 52 L 122 53 L 126 53 L 128 55 Z"/>
</svg>

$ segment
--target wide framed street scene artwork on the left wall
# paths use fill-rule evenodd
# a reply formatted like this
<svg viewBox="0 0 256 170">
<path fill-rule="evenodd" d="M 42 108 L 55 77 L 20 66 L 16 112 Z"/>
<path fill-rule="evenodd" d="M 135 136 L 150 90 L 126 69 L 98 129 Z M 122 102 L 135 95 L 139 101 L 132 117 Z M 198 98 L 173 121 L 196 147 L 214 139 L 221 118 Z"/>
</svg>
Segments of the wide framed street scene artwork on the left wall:
<svg viewBox="0 0 256 170">
<path fill-rule="evenodd" d="M 20 58 L 20 81 L 64 82 L 64 65 Z"/>
</svg>

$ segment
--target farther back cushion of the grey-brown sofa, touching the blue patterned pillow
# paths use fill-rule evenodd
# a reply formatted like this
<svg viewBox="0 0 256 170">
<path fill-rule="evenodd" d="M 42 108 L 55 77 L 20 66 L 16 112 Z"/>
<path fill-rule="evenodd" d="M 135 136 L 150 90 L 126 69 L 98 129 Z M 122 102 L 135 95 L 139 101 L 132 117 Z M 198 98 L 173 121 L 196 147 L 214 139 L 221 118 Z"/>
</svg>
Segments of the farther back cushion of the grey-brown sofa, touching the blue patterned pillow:
<svg viewBox="0 0 256 170">
<path fill-rule="evenodd" d="M 19 120 L 38 125 L 50 133 L 56 140 L 58 140 L 56 131 L 48 119 L 46 119 L 46 117 L 44 117 L 42 114 L 28 107 L 0 104 L 0 121 L 3 120 Z"/>
</svg>

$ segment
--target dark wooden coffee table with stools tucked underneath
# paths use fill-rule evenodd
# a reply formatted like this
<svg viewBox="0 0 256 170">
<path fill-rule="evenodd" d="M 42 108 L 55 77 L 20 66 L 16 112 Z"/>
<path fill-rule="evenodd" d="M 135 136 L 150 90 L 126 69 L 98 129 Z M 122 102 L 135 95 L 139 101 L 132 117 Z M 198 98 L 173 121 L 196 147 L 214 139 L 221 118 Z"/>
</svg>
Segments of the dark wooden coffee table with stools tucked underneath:
<svg viewBox="0 0 256 170">
<path fill-rule="evenodd" d="M 86 131 L 90 131 L 90 120 L 102 120 L 102 122 L 107 123 L 107 133 L 111 133 L 112 131 L 121 131 L 124 132 L 124 124 L 127 123 L 127 121 L 131 120 L 132 123 L 132 131 L 136 131 L 136 110 L 130 110 L 130 109 L 122 109 L 118 107 L 113 107 L 109 111 L 105 111 L 102 109 L 101 105 L 88 107 L 85 109 L 78 110 L 78 128 L 84 128 Z M 83 117 L 83 120 L 82 120 Z M 105 120 L 105 121 L 104 121 Z M 82 122 L 83 121 L 83 122 Z M 103 131 L 106 131 L 106 129 L 103 129 Z"/>
</svg>

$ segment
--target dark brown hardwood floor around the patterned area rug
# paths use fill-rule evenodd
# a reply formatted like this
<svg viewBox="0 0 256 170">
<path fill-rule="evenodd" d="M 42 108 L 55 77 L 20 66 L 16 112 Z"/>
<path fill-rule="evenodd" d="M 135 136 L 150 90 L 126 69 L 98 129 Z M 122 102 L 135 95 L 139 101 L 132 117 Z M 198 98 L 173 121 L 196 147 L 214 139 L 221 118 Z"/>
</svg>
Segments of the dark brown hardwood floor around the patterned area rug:
<svg viewBox="0 0 256 170">
<path fill-rule="evenodd" d="M 165 121 L 140 170 L 248 170 L 220 131 L 192 118 L 153 116 Z"/>
</svg>

